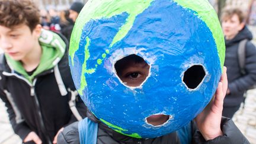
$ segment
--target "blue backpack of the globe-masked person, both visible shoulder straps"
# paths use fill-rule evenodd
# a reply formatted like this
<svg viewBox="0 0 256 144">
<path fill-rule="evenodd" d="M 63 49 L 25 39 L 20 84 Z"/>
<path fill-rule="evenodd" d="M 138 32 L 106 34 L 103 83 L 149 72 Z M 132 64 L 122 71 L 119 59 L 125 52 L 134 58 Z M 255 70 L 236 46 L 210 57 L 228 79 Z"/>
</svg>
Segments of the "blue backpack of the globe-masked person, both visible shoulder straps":
<svg viewBox="0 0 256 144">
<path fill-rule="evenodd" d="M 86 117 L 78 123 L 79 140 L 81 144 L 97 144 L 98 123 Z M 181 144 L 189 144 L 192 139 L 191 121 L 177 130 Z"/>
</svg>

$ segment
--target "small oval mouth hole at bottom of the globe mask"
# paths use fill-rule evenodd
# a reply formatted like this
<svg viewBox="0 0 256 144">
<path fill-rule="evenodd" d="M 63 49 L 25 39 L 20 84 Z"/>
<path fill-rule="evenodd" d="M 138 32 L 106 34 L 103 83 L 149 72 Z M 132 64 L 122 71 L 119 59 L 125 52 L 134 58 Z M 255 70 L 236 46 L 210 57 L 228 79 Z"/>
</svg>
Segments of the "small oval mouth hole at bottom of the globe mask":
<svg viewBox="0 0 256 144">
<path fill-rule="evenodd" d="M 149 117 L 146 117 L 146 123 L 154 127 L 161 127 L 168 121 L 172 119 L 172 116 L 165 114 L 153 114 Z"/>
</svg>

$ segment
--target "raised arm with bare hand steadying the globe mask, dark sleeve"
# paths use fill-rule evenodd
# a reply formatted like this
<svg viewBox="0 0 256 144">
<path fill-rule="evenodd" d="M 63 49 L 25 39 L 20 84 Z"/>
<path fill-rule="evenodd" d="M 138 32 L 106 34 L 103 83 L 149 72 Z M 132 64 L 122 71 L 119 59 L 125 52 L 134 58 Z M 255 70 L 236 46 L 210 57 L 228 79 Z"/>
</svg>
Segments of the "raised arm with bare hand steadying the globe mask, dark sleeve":
<svg viewBox="0 0 256 144">
<path fill-rule="evenodd" d="M 232 120 L 222 119 L 223 100 L 226 95 L 228 80 L 226 68 L 213 100 L 196 117 L 193 126 L 193 143 L 249 143 Z"/>
</svg>

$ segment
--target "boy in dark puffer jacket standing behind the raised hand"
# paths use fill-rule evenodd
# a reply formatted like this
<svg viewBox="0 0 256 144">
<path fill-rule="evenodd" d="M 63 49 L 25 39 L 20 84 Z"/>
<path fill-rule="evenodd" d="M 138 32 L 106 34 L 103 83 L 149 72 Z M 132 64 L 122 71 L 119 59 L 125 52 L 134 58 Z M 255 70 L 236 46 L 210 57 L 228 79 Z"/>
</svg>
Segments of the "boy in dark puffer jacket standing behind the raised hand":
<svg viewBox="0 0 256 144">
<path fill-rule="evenodd" d="M 226 57 L 228 69 L 228 91 L 224 99 L 223 116 L 232 118 L 244 101 L 244 93 L 256 84 L 256 48 L 251 43 L 252 33 L 245 25 L 245 16 L 239 8 L 227 8 L 222 13 L 222 29 L 225 35 Z M 245 73 L 239 66 L 238 47 L 245 43 Z"/>
</svg>

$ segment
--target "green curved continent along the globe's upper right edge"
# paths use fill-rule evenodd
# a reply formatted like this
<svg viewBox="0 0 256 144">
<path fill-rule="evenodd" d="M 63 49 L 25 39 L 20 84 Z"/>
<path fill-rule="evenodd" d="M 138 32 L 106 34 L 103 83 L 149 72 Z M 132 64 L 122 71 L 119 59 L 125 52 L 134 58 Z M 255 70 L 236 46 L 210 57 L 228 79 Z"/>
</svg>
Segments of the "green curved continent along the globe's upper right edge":
<svg viewBox="0 0 256 144">
<path fill-rule="evenodd" d="M 212 31 L 213 38 L 217 46 L 217 52 L 220 59 L 220 67 L 222 68 L 225 60 L 225 42 L 222 32 L 222 28 L 217 18 L 215 9 L 206 0 L 174 0 L 181 7 L 188 8 L 197 12 L 197 16 L 206 23 L 206 25 Z"/>
</svg>

